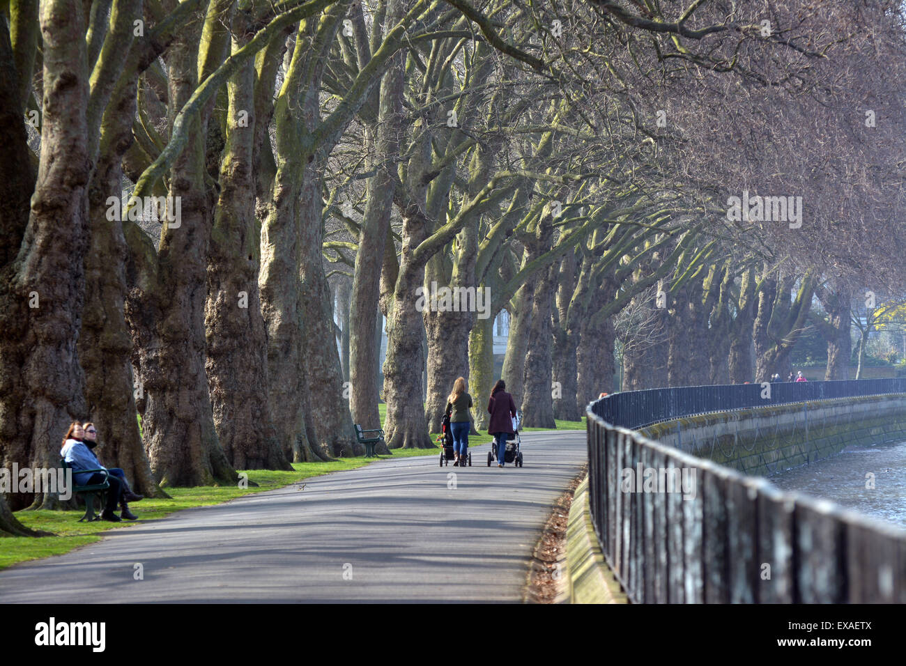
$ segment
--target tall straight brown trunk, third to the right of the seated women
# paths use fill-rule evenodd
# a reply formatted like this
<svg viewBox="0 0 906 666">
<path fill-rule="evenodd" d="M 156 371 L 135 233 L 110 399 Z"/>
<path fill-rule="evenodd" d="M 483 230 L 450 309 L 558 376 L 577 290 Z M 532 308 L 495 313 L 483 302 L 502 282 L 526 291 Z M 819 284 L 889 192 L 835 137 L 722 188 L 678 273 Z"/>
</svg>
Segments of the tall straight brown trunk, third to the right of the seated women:
<svg viewBox="0 0 906 666">
<path fill-rule="evenodd" d="M 242 46 L 234 43 L 234 51 Z M 226 149 L 207 259 L 207 384 L 226 459 L 236 469 L 292 469 L 267 401 L 267 333 L 258 295 L 260 238 L 252 173 L 255 63 L 227 84 Z"/>
</svg>

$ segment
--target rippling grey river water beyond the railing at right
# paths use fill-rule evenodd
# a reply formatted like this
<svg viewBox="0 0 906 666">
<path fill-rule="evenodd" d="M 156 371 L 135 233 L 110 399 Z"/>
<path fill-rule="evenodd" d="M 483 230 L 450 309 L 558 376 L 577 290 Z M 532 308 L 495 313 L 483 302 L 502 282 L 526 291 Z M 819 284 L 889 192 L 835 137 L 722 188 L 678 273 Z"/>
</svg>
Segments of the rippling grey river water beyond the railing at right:
<svg viewBox="0 0 906 666">
<path fill-rule="evenodd" d="M 865 487 L 873 474 L 874 487 Z M 850 447 L 833 458 L 767 478 L 782 490 L 830 499 L 860 513 L 906 527 L 906 442 Z M 870 485 L 870 484 L 869 484 Z"/>
</svg>

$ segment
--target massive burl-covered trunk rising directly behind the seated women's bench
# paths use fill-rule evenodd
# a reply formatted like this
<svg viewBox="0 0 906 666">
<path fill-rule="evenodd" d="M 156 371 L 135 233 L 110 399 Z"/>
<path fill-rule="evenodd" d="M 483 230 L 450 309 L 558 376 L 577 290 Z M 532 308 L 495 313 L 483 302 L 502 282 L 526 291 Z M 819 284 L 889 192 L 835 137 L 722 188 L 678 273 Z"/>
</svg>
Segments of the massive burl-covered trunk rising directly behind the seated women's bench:
<svg viewBox="0 0 906 666">
<path fill-rule="evenodd" d="M 89 248 L 87 185 L 92 172 L 86 109 L 89 72 L 85 55 L 82 4 L 47 0 L 41 5 L 43 36 L 43 118 L 41 155 L 31 197 L 31 214 L 21 247 L 22 217 L 8 210 L 23 192 L 4 201 L 5 266 L 0 292 L 0 412 L 3 413 L 2 462 L 35 468 L 56 468 L 66 426 L 85 413 L 84 376 L 77 343 L 82 328 L 85 274 L 82 257 Z M 7 55 L 8 34 L 4 33 Z M 7 61 L 8 63 L 8 61 Z M 8 71 L 8 66 L 5 65 Z M 5 72 L 4 72 L 5 73 Z M 24 74 L 27 76 L 27 74 Z M 8 97 L 5 80 L 0 87 Z M 5 107 L 4 107 L 5 108 Z M 18 108 L 18 103 L 14 104 Z M 19 123 L 22 118 L 16 113 Z M 10 130 L 5 130 L 7 133 Z M 20 140 L 6 150 L 21 164 Z M 30 179 L 31 169 L 14 176 L 16 184 Z M 11 495 L 11 509 L 32 497 Z M 44 507 L 56 498 L 38 497 Z"/>
</svg>

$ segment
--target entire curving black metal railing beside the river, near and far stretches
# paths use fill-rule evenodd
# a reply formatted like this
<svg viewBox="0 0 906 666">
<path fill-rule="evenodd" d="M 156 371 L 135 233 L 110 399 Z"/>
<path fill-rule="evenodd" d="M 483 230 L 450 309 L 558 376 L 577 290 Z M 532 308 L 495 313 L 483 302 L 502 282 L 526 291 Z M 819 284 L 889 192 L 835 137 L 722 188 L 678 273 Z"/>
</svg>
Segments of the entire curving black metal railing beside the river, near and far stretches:
<svg viewBox="0 0 906 666">
<path fill-rule="evenodd" d="M 627 597 L 632 603 L 906 603 L 906 530 L 781 492 L 763 478 L 620 427 L 904 393 L 906 381 L 772 384 L 770 400 L 762 390 L 754 384 L 633 391 L 588 406 L 589 508 L 604 558 Z M 649 469 L 658 482 L 646 491 L 636 477 Z M 684 475 L 692 483 L 684 486 Z M 672 491 L 670 479 L 679 483 Z"/>
</svg>

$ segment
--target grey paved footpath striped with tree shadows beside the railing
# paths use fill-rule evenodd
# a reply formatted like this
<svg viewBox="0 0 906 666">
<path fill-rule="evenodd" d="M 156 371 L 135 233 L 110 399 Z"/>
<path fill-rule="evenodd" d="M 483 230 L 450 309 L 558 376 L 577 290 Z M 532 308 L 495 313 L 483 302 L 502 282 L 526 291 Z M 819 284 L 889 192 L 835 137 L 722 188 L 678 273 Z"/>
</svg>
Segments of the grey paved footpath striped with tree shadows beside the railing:
<svg viewBox="0 0 906 666">
<path fill-rule="evenodd" d="M 0 571 L 0 603 L 519 602 L 585 432 L 525 433 L 524 468 L 488 468 L 489 449 L 471 468 L 390 458 L 111 530 Z"/>
</svg>

